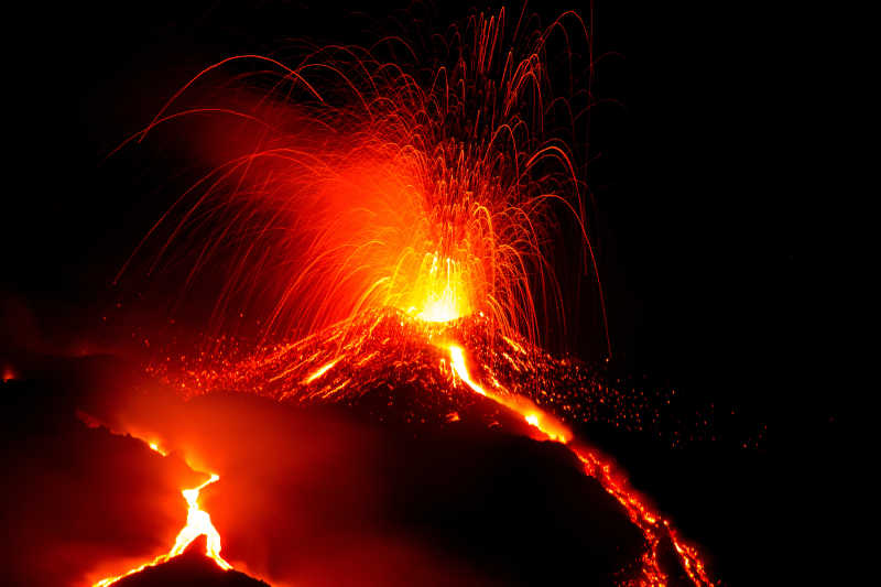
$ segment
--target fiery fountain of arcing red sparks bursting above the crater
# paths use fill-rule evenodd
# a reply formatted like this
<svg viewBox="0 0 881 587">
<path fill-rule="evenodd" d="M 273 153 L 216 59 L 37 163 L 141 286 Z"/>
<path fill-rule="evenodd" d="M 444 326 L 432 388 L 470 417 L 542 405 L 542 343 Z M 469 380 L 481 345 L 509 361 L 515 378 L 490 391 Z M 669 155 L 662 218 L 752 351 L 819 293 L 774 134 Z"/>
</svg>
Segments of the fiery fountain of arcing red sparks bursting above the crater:
<svg viewBox="0 0 881 587">
<path fill-rule="evenodd" d="M 168 230 L 160 258 L 196 243 L 191 276 L 226 261 L 219 319 L 257 309 L 249 315 L 264 333 L 283 337 L 394 307 L 442 322 L 481 311 L 536 340 L 542 316 L 563 316 L 548 249 L 558 213 L 580 232 L 596 275 L 570 146 L 591 98 L 555 94 L 545 53 L 558 37 L 572 69 L 580 36 L 587 74 L 592 63 L 576 14 L 544 30 L 526 22 L 523 13 L 512 26 L 501 10 L 428 41 L 324 46 L 295 66 L 243 55 L 205 69 L 134 138 L 195 113 L 232 115 L 252 132 L 239 141 L 229 124 L 229 142 L 248 146 L 154 227 Z M 182 106 L 246 63 L 261 69 L 236 78 L 251 98 Z"/>
</svg>

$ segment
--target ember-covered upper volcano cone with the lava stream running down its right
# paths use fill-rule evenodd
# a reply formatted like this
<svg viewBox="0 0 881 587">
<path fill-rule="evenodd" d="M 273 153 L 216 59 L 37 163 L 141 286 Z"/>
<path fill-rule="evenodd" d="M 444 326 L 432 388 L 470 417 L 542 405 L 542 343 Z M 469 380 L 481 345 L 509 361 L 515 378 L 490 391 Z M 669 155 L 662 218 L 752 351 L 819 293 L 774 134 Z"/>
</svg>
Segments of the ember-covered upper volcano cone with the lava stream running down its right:
<svg viewBox="0 0 881 587">
<path fill-rule="evenodd" d="M 584 472 L 642 532 L 638 583 L 679 577 L 711 584 L 697 550 L 630 487 L 610 458 L 576 442 L 569 430 L 572 423 L 602 417 L 603 410 L 633 425 L 651 412 L 618 401 L 580 361 L 554 358 L 493 328 L 480 314 L 426 323 L 382 309 L 255 354 L 239 352 L 229 341 L 183 362 L 177 371 L 170 365 L 153 371 L 191 395 L 226 390 L 297 405 L 344 404 L 389 424 L 463 422 L 568 445 Z"/>
</svg>

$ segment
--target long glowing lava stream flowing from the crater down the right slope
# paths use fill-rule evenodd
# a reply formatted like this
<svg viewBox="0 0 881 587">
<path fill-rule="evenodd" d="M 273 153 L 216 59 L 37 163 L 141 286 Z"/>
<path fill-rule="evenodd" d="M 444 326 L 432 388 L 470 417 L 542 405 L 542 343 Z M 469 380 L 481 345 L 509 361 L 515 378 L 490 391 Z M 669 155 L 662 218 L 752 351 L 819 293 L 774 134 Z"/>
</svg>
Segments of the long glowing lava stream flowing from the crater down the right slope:
<svg viewBox="0 0 881 587">
<path fill-rule="evenodd" d="M 627 510 L 630 520 L 639 526 L 649 542 L 649 551 L 643 555 L 643 577 L 640 584 L 667 585 L 667 575 L 662 570 L 659 562 L 661 539 L 666 533 L 692 583 L 697 586 L 713 585 L 697 550 L 679 539 L 675 530 L 671 528 L 670 521 L 654 512 L 629 486 L 622 475 L 616 475 L 612 464 L 606 460 L 599 452 L 570 446 L 572 433 L 559 421 L 543 412 L 530 400 L 515 395 L 501 395 L 481 387 L 471 378 L 461 347 L 449 345 L 447 349 L 453 370 L 472 391 L 522 415 L 527 424 L 541 432 L 548 441 L 566 445 L 584 465 L 585 474 L 597 479 L 602 488 Z"/>
</svg>

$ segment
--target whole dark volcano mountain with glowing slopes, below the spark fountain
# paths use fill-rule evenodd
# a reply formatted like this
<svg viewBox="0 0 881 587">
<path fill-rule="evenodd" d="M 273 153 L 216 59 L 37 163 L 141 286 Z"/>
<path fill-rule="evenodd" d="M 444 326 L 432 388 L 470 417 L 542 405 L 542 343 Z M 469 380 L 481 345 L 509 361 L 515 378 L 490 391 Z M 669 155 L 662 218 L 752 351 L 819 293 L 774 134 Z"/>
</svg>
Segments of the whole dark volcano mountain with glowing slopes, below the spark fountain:
<svg viewBox="0 0 881 587">
<path fill-rule="evenodd" d="M 591 390 L 611 393 L 585 363 L 493 330 L 479 315 L 431 324 L 393 309 L 250 355 L 238 349 L 227 341 L 196 360 L 153 366 L 146 378 L 91 359 L 52 387 L 7 383 L 25 385 L 30 401 L 68 399 L 29 469 L 25 485 L 45 498 L 12 521 L 31 541 L 64 530 L 58 550 L 86 553 L 46 585 L 108 576 L 122 577 L 118 585 L 248 585 L 236 572 L 271 585 L 709 583 L 694 546 L 569 431 L 602 405 Z M 34 400 L 44 388 L 52 392 Z M 578 396 L 586 400 L 568 403 Z M 99 457 L 121 445 L 126 455 Z M 78 479 L 64 490 L 88 514 L 65 510 L 54 525 L 24 531 L 52 500 L 46 479 L 57 476 L 46 471 L 57 470 L 59 453 Z M 84 491 L 94 486 L 99 494 Z M 235 572 L 202 555 L 199 536 L 184 554 L 150 563 L 182 528 L 181 489 L 197 486 Z M 106 513 L 101 500 L 113 504 Z M 116 547 L 72 547 L 96 534 Z"/>
</svg>

